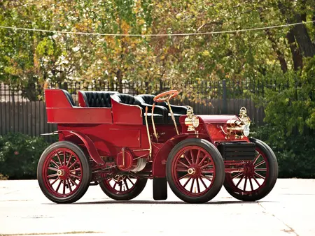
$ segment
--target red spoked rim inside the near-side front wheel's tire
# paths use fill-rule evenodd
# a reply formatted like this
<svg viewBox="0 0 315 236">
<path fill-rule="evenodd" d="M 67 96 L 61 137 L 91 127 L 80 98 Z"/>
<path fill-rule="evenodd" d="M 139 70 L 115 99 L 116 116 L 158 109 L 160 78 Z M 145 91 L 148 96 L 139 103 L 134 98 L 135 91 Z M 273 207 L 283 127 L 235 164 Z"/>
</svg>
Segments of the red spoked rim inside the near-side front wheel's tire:
<svg viewBox="0 0 315 236">
<path fill-rule="evenodd" d="M 172 178 L 182 193 L 199 197 L 207 193 L 216 177 L 216 166 L 211 155 L 202 147 L 184 147 L 172 163 Z"/>
</svg>

